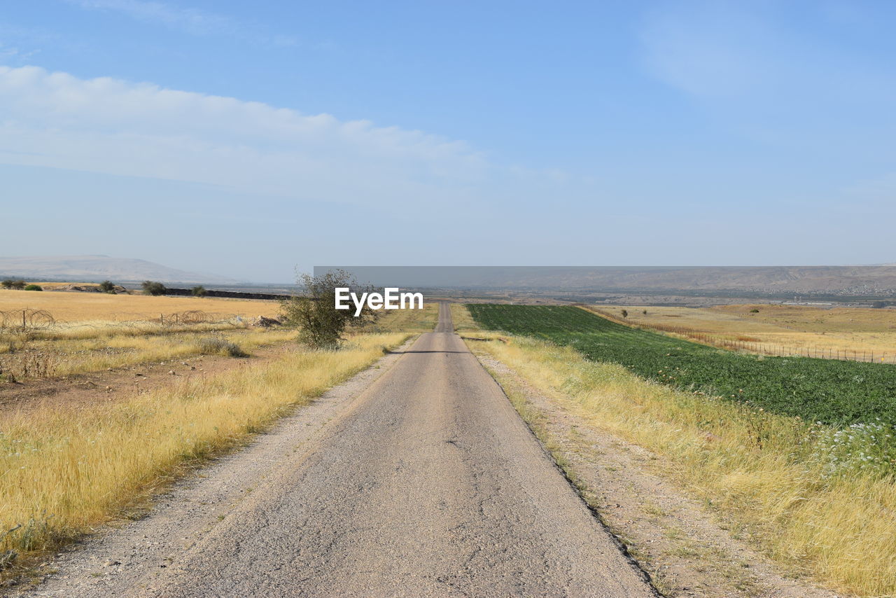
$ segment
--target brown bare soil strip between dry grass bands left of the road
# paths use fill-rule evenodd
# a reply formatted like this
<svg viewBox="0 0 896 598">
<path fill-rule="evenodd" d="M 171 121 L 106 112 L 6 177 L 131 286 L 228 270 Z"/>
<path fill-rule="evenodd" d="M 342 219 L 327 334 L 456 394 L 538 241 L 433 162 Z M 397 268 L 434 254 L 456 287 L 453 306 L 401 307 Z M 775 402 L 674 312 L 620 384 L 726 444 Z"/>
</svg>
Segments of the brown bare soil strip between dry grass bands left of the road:
<svg viewBox="0 0 896 598">
<path fill-rule="evenodd" d="M 67 410 L 121 401 L 134 394 L 170 386 L 185 378 L 204 377 L 233 368 L 277 359 L 292 343 L 259 347 L 252 357 L 199 355 L 189 359 L 152 361 L 126 368 L 65 377 L 48 377 L 9 383 L 0 381 L 0 412 L 30 411 L 39 407 Z"/>
</svg>

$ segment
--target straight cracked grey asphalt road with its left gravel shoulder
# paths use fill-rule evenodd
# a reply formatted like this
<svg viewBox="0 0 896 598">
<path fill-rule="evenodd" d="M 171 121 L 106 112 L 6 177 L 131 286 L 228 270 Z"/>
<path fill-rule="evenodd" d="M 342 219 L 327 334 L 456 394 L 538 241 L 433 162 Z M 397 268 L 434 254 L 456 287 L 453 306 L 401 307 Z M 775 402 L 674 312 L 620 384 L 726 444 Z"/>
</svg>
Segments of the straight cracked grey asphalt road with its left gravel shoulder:
<svg viewBox="0 0 896 598">
<path fill-rule="evenodd" d="M 655 596 L 452 331 L 443 304 L 167 566 L 48 595 Z"/>
</svg>

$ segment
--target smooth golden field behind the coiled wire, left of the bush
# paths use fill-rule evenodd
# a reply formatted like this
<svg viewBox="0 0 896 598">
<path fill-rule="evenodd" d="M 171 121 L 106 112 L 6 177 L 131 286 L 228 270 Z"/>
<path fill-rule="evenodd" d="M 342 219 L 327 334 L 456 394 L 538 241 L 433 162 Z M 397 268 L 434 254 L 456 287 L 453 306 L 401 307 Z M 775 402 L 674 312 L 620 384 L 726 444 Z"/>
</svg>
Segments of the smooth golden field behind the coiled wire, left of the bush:
<svg viewBox="0 0 896 598">
<path fill-rule="evenodd" d="M 0 311 L 45 309 L 56 320 L 65 323 L 128 322 L 158 320 L 194 309 L 222 316 L 267 316 L 280 311 L 277 301 L 261 299 L 222 299 L 195 297 L 151 297 L 149 295 L 110 295 L 93 292 L 36 292 L 0 290 Z"/>
</svg>

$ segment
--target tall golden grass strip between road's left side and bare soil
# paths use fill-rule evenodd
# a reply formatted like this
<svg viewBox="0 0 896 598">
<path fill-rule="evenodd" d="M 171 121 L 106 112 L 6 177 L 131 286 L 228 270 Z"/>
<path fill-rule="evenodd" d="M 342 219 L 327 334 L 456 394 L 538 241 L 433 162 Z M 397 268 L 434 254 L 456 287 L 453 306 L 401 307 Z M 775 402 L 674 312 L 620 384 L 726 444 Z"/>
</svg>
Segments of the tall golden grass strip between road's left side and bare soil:
<svg viewBox="0 0 896 598">
<path fill-rule="evenodd" d="M 340 351 L 294 351 L 271 363 L 187 380 L 175 390 L 0 414 L 0 550 L 28 556 L 93 529 L 180 471 L 234 446 L 404 342 L 364 334 Z"/>
</svg>

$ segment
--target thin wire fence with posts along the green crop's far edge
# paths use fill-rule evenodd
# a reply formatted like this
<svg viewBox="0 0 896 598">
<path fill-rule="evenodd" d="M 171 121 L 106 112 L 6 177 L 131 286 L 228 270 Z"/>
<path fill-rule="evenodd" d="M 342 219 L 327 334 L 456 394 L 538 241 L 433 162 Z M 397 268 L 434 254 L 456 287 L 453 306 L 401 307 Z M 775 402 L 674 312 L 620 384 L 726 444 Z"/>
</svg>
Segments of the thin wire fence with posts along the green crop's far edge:
<svg viewBox="0 0 896 598">
<path fill-rule="evenodd" d="M 731 339 L 722 336 L 721 333 L 708 333 L 694 330 L 694 328 L 687 328 L 685 326 L 648 324 L 645 322 L 629 320 L 623 316 L 616 315 L 603 309 L 589 309 L 599 316 L 603 316 L 607 318 L 607 320 L 611 320 L 617 324 L 646 328 L 664 333 L 680 334 L 691 340 L 731 351 L 748 351 L 760 355 L 769 355 L 771 357 L 811 357 L 819 360 L 866 361 L 868 363 L 888 363 L 896 365 L 896 350 L 889 352 L 861 351 L 835 346 L 820 347 L 808 344 L 795 345 L 778 342 Z"/>
</svg>

